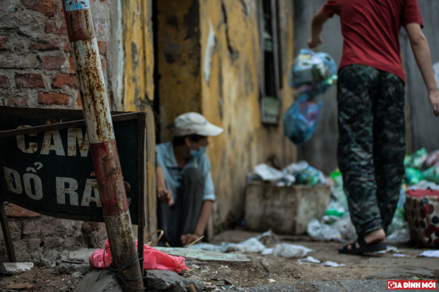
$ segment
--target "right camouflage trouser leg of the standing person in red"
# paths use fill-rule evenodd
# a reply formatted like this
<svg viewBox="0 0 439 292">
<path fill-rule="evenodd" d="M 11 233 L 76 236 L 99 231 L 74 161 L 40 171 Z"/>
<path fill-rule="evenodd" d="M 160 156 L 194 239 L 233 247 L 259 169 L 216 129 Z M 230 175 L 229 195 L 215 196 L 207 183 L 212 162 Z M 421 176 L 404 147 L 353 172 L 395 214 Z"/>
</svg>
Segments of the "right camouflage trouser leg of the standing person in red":
<svg viewBox="0 0 439 292">
<path fill-rule="evenodd" d="M 401 78 L 381 72 L 381 95 L 375 99 L 373 161 L 378 207 L 386 232 L 395 214 L 405 172 L 404 102 Z"/>
</svg>

